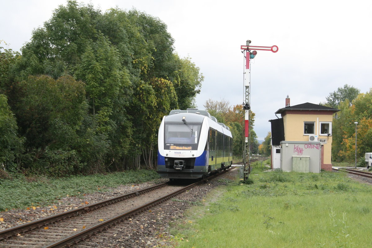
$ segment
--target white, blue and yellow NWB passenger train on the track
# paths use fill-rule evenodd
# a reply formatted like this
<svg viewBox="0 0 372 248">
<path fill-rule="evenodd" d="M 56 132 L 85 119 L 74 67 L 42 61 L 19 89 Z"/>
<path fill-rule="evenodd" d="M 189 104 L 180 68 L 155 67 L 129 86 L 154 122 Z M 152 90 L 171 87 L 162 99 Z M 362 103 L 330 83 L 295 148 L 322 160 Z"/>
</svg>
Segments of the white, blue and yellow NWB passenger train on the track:
<svg viewBox="0 0 372 248">
<path fill-rule="evenodd" d="M 197 179 L 232 165 L 230 128 L 206 110 L 171 110 L 158 131 L 157 173 L 162 178 Z"/>
</svg>

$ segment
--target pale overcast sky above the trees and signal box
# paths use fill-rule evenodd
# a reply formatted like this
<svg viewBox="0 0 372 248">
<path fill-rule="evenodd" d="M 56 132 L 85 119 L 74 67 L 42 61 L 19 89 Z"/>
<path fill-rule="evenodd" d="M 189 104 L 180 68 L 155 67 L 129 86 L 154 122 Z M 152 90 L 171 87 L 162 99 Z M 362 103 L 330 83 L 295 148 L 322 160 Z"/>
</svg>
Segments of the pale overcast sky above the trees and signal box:
<svg viewBox="0 0 372 248">
<path fill-rule="evenodd" d="M 349 84 L 362 93 L 372 87 L 372 1 L 205 1 L 92 0 L 103 12 L 118 6 L 158 17 L 168 26 L 176 52 L 189 56 L 205 76 L 196 97 L 244 100 L 244 57 L 240 46 L 277 45 L 279 51 L 258 51 L 251 64 L 251 110 L 259 139 L 270 131 L 268 120 L 291 105 L 325 101 L 329 93 Z M 63 0 L 0 2 L 0 40 L 19 51 L 34 28 L 50 19 Z M 4 46 L 4 43 L 1 43 Z M 279 116 L 280 117 L 280 116 Z"/>
</svg>

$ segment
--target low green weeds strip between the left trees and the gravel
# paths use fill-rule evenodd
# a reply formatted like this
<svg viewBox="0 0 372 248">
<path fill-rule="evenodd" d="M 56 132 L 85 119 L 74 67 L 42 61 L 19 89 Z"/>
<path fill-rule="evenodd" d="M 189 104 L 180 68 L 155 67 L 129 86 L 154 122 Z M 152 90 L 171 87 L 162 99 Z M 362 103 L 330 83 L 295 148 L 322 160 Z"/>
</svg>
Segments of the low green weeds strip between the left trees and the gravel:
<svg viewBox="0 0 372 248">
<path fill-rule="evenodd" d="M 58 199 L 96 191 L 107 191 L 122 184 L 136 184 L 160 178 L 155 171 L 137 170 L 64 178 L 25 177 L 23 174 L 0 179 L 0 211 L 29 206 L 45 206 Z"/>
</svg>

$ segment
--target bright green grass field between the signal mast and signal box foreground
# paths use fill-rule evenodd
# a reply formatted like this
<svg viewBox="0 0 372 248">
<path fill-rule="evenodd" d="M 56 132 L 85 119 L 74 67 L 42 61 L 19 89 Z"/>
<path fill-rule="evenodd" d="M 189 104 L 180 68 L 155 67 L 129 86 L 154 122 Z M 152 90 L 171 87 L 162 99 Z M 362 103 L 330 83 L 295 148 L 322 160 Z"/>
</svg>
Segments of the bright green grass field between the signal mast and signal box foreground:
<svg viewBox="0 0 372 248">
<path fill-rule="evenodd" d="M 372 187 L 344 173 L 264 172 L 225 181 L 173 226 L 177 247 L 372 247 Z M 223 183 L 223 182 L 222 182 Z"/>
</svg>

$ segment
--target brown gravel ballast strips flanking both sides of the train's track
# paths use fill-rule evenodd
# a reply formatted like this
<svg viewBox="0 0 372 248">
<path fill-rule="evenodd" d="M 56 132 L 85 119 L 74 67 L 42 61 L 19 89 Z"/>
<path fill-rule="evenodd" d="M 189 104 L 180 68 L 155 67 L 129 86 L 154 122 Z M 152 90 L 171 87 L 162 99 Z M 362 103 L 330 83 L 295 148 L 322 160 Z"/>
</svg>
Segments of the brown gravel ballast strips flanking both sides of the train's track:
<svg viewBox="0 0 372 248">
<path fill-rule="evenodd" d="M 149 210 L 123 220 L 114 228 L 95 235 L 78 243 L 77 247 L 101 248 L 142 248 L 142 247 L 173 247 L 170 242 L 171 235 L 167 232 L 170 224 L 183 219 L 183 213 L 195 204 L 201 204 L 206 194 L 215 187 L 223 184 L 221 177 L 226 180 L 235 180 L 238 170 L 234 169 L 222 174 L 218 178 L 193 187 L 178 196 L 151 207 Z M 144 189 L 155 184 L 168 181 L 166 179 L 154 180 L 135 185 L 123 185 L 112 188 L 107 192 L 85 194 L 79 197 L 64 197 L 58 203 L 46 207 L 30 207 L 30 209 L 12 209 L 0 212 L 0 230 L 22 225 L 33 220 L 45 218 L 57 213 L 76 209 L 132 191 Z M 2 218 L 2 219 L 1 219 Z M 1 241 L 0 241 L 1 246 Z"/>
</svg>

